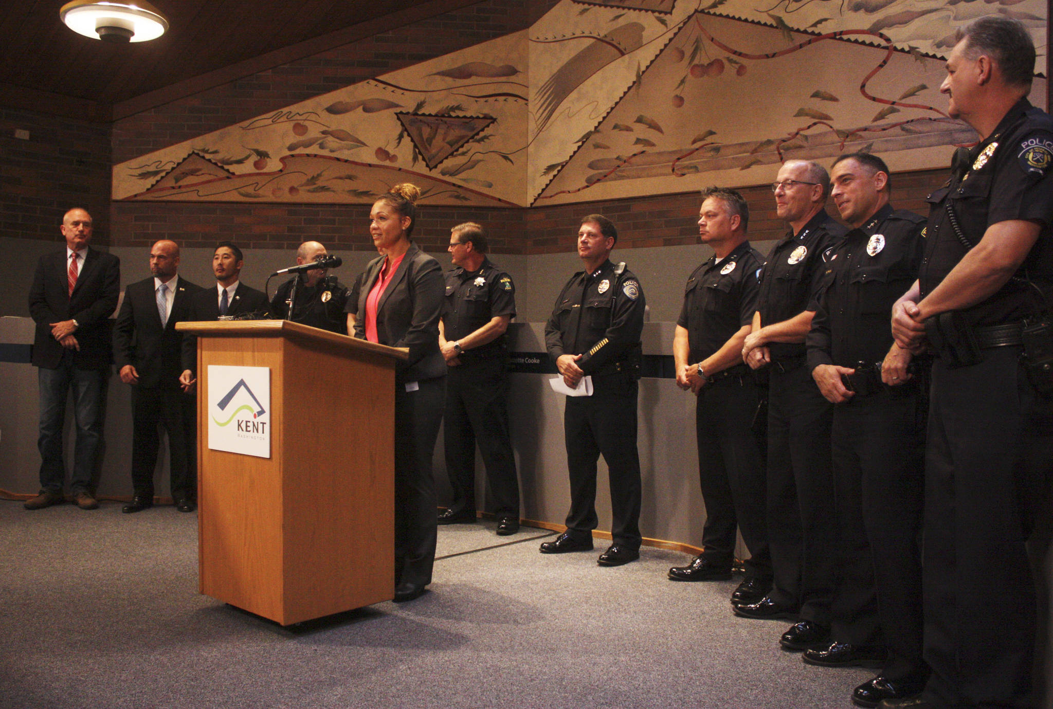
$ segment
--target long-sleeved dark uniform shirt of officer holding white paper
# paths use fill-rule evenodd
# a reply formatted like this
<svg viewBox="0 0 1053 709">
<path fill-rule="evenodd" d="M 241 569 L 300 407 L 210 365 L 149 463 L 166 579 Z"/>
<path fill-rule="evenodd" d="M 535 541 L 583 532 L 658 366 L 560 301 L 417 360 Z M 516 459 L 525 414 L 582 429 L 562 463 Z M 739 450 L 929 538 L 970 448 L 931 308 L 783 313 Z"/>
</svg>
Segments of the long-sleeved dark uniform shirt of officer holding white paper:
<svg viewBox="0 0 1053 709">
<path fill-rule="evenodd" d="M 579 271 L 567 281 L 544 326 L 553 361 L 584 354 L 577 366 L 585 374 L 608 374 L 639 350 L 645 301 L 640 281 L 628 269 L 616 275 L 604 261 L 593 273 Z"/>
</svg>

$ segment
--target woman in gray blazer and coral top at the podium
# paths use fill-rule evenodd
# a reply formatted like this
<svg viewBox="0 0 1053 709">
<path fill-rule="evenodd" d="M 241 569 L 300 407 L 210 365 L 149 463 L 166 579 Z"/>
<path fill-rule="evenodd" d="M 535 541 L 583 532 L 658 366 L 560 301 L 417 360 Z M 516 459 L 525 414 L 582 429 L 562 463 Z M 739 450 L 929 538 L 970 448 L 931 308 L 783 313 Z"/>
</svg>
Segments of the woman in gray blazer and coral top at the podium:
<svg viewBox="0 0 1053 709">
<path fill-rule="evenodd" d="M 374 203 L 370 235 L 384 254 L 365 268 L 355 337 L 409 348 L 395 372 L 395 600 L 413 600 L 432 582 L 436 500 L 432 454 L 442 421 L 446 363 L 439 351 L 442 268 L 410 240 L 420 190 L 396 184 Z"/>
</svg>

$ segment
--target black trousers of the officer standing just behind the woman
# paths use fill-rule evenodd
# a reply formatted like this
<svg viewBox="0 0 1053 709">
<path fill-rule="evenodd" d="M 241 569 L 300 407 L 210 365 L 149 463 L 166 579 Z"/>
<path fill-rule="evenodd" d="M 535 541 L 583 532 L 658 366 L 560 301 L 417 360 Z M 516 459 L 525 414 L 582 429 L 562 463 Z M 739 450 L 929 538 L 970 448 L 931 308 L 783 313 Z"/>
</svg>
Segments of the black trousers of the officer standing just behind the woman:
<svg viewBox="0 0 1053 709">
<path fill-rule="evenodd" d="M 469 361 L 446 374 L 442 437 L 453 490 L 450 509 L 475 512 L 475 445 L 486 469 L 493 512 L 519 517 L 519 481 L 509 434 L 509 374 L 501 358 Z"/>
</svg>

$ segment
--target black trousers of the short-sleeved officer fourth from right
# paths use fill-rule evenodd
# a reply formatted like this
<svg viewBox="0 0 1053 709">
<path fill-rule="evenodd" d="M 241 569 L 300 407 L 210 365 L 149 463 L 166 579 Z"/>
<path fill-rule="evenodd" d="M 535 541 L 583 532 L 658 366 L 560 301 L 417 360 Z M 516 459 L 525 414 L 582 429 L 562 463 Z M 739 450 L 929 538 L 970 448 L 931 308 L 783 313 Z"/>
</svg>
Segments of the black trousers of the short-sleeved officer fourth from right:
<svg viewBox="0 0 1053 709">
<path fill-rule="evenodd" d="M 731 376 L 698 393 L 695 430 L 698 479 L 706 501 L 702 556 L 731 569 L 735 530 L 750 550 L 748 578 L 772 577 L 766 512 L 766 441 L 755 420 L 763 390 L 751 377 Z"/>
</svg>

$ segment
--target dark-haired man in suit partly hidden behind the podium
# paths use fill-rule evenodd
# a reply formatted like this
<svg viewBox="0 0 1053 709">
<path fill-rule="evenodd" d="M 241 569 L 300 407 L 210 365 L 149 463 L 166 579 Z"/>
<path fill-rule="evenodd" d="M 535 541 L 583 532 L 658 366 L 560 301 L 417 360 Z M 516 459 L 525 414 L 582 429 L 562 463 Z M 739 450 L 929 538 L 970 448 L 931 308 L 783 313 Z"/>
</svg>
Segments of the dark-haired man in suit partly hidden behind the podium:
<svg viewBox="0 0 1053 709">
<path fill-rule="evenodd" d="M 216 287 L 202 289 L 191 297 L 191 308 L 185 319 L 218 320 L 220 317 L 231 318 L 250 314 L 267 316 L 270 303 L 266 295 L 238 280 L 244 263 L 240 249 L 231 241 L 220 241 L 212 256 L 212 272 L 216 274 Z M 190 391 L 197 381 L 195 374 L 197 337 L 184 334 L 182 351 L 183 373 L 179 376 L 179 382 L 183 391 Z"/>
</svg>

